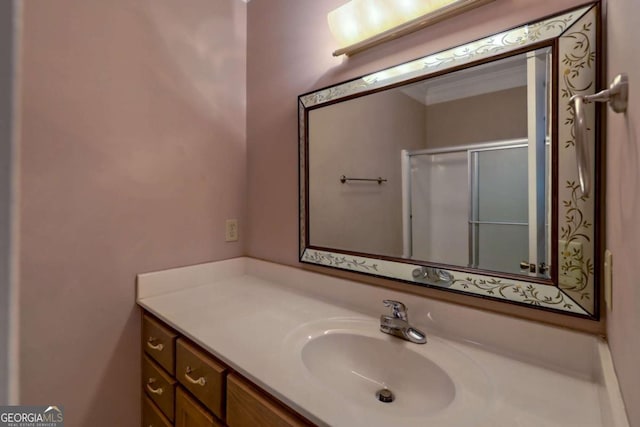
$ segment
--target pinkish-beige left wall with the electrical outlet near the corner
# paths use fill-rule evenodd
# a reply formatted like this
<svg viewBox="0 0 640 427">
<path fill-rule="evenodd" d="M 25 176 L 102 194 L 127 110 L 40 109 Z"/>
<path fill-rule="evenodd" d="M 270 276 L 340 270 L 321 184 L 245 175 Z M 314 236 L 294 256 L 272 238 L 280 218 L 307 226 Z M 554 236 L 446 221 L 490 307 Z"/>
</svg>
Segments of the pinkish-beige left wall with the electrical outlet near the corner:
<svg viewBox="0 0 640 427">
<path fill-rule="evenodd" d="M 138 426 L 136 273 L 244 252 L 246 5 L 24 7 L 20 401 Z"/>
</svg>

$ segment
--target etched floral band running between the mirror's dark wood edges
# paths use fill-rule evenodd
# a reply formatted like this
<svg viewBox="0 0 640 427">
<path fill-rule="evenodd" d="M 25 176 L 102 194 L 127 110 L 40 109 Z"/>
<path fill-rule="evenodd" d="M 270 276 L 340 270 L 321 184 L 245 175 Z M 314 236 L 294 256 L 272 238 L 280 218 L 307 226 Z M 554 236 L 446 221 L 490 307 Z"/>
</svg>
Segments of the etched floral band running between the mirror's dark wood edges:
<svg viewBox="0 0 640 427">
<path fill-rule="evenodd" d="M 382 260 L 376 257 L 345 254 L 309 248 L 306 241 L 307 194 L 304 182 L 307 162 L 305 111 L 373 89 L 384 88 L 435 72 L 458 67 L 479 59 L 526 48 L 542 41 L 557 39 L 558 48 L 558 199 L 559 280 L 558 286 L 494 277 L 486 274 L 447 270 L 453 281 L 446 288 L 466 294 L 542 307 L 579 316 L 597 317 L 595 296 L 595 203 L 593 196 L 580 196 L 576 182 L 574 114 L 569 106 L 573 95 L 596 91 L 596 47 L 598 5 L 588 5 L 533 24 L 524 25 L 466 45 L 445 50 L 359 79 L 299 97 L 300 166 L 300 261 L 316 265 L 401 280 L 420 286 L 413 270 L 422 266 L 410 261 Z M 595 123 L 595 108 L 587 105 L 588 123 Z M 591 174 L 595 176 L 595 126 L 589 129 L 588 150 Z M 578 251 L 575 248 L 581 247 Z"/>
</svg>

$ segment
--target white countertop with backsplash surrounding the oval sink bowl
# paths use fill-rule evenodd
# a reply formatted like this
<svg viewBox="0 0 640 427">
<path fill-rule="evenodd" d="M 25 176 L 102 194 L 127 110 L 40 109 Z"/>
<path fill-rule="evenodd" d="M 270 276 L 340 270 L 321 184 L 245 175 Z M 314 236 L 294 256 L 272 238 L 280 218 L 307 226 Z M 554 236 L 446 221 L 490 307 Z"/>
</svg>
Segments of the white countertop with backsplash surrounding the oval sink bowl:
<svg viewBox="0 0 640 427">
<path fill-rule="evenodd" d="M 487 388 L 469 391 L 484 402 L 471 418 L 371 417 L 296 365 L 301 327 L 375 325 L 384 298 L 403 301 L 411 324 L 487 379 Z M 627 426 L 607 345 L 595 336 L 250 258 L 140 275 L 138 303 L 318 425 Z"/>
</svg>

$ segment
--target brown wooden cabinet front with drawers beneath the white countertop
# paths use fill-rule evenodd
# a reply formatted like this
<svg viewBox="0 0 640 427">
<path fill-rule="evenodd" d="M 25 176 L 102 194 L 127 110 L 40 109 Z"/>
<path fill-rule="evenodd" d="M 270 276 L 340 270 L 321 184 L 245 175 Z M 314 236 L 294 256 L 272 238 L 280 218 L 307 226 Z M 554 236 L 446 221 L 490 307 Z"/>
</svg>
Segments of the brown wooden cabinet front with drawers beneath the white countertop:
<svg viewBox="0 0 640 427">
<path fill-rule="evenodd" d="M 314 425 L 146 312 L 142 346 L 143 427 Z"/>
</svg>

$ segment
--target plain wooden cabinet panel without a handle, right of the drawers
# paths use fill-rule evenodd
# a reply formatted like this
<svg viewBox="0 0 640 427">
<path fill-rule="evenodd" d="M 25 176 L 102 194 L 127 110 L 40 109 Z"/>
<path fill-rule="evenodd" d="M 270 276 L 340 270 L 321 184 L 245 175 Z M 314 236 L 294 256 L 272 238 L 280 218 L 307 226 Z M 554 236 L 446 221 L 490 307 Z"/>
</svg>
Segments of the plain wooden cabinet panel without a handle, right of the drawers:
<svg viewBox="0 0 640 427">
<path fill-rule="evenodd" d="M 298 427 L 313 424 L 298 418 L 289 408 L 231 374 L 227 377 L 227 425 Z"/>
</svg>

